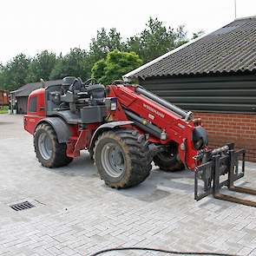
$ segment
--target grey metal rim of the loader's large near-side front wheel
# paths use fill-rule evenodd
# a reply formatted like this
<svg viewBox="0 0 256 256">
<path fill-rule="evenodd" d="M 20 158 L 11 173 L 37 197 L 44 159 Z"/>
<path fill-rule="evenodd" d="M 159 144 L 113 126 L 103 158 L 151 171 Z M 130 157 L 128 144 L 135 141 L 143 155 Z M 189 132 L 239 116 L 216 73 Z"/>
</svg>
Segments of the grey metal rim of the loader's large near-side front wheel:
<svg viewBox="0 0 256 256">
<path fill-rule="evenodd" d="M 121 148 L 115 143 L 109 142 L 102 148 L 102 167 L 109 176 L 120 177 L 125 170 L 125 158 Z"/>
</svg>

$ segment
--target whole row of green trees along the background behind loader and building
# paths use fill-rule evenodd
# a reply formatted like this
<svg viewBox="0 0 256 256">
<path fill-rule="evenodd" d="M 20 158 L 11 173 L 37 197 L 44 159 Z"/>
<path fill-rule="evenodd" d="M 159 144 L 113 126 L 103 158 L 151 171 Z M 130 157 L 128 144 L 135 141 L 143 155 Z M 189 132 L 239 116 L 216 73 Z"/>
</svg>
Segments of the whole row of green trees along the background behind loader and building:
<svg viewBox="0 0 256 256">
<path fill-rule="evenodd" d="M 193 34 L 193 38 L 203 33 L 203 31 L 198 31 Z M 44 50 L 34 56 L 32 60 L 20 54 L 7 64 L 0 64 L 0 88 L 12 90 L 26 82 L 39 81 L 40 78 L 44 80 L 60 79 L 67 75 L 81 76 L 82 79 L 86 79 L 90 77 L 93 67 L 93 75 L 100 77 L 103 79 L 102 81 L 111 81 L 113 77 L 117 78 L 123 75 L 121 74 L 122 70 L 125 70 L 123 73 L 126 73 L 129 71 L 128 69 L 135 69 L 138 63 L 133 60 L 130 65 L 128 62 L 121 63 L 127 59 L 127 56 L 121 56 L 120 62 L 113 61 L 115 64 L 110 65 L 107 62 L 109 52 L 115 49 L 122 53 L 134 52 L 141 57 L 142 62 L 149 62 L 167 51 L 187 43 L 187 41 L 187 31 L 184 25 L 174 30 L 152 17 L 148 20 L 145 30 L 138 35 L 131 36 L 126 41 L 122 41 L 121 34 L 115 28 L 111 30 L 102 28 L 91 40 L 89 51 L 78 48 L 70 49 L 69 54 L 56 58 L 54 53 Z M 118 56 L 117 52 L 114 56 Z M 117 73 L 115 74 L 115 72 Z M 104 75 L 105 78 L 102 78 Z M 106 75 L 109 76 L 109 79 Z"/>
</svg>

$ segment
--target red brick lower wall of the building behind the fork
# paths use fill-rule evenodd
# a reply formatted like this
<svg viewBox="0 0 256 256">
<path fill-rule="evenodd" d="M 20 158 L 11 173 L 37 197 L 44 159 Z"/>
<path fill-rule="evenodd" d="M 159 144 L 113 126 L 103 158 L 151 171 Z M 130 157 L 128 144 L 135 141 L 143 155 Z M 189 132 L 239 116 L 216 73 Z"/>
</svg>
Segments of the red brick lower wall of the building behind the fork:
<svg viewBox="0 0 256 256">
<path fill-rule="evenodd" d="M 234 142 L 236 148 L 246 148 L 247 161 L 256 161 L 256 114 L 194 112 L 194 117 L 202 119 L 210 147 Z"/>
</svg>

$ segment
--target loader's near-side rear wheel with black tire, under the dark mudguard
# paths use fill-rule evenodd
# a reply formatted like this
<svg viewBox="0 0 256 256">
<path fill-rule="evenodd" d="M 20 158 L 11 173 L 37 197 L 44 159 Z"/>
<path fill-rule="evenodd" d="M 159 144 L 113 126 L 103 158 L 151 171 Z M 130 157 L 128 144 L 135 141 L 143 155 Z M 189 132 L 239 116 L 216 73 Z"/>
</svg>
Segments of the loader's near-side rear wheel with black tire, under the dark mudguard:
<svg viewBox="0 0 256 256">
<path fill-rule="evenodd" d="M 47 146 L 44 146 L 46 144 Z M 66 155 L 67 144 L 58 142 L 56 132 L 47 123 L 39 124 L 36 128 L 34 148 L 36 158 L 43 167 L 63 167 L 73 160 Z"/>
</svg>

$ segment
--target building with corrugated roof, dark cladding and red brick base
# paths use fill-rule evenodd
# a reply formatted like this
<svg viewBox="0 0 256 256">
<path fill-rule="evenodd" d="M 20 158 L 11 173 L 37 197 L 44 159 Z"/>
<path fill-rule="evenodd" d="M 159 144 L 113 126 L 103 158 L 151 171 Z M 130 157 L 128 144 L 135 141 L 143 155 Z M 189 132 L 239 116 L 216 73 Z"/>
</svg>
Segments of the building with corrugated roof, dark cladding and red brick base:
<svg viewBox="0 0 256 256">
<path fill-rule="evenodd" d="M 194 111 L 210 146 L 234 141 L 256 161 L 256 16 L 183 44 L 124 75 Z"/>
</svg>

